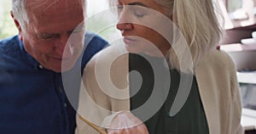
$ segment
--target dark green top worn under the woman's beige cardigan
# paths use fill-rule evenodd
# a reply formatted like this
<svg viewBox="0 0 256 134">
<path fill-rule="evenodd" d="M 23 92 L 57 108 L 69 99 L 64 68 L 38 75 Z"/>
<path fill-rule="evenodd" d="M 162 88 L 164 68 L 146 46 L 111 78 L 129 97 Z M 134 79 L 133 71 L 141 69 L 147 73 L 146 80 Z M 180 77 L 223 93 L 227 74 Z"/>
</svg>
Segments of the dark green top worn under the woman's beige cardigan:
<svg viewBox="0 0 256 134">
<path fill-rule="evenodd" d="M 164 70 L 166 68 L 163 65 L 164 59 L 153 58 L 146 56 L 147 59 L 150 59 L 151 63 L 158 64 L 157 68 Z M 148 63 L 147 59 L 144 59 L 142 56 L 137 54 L 130 54 L 129 58 L 129 70 L 137 70 L 143 78 L 142 87 L 137 92 L 137 83 L 138 79 L 135 79 L 130 75 L 130 87 L 131 95 L 134 92 L 137 92 L 134 96 L 131 97 L 131 110 L 141 107 L 145 102 L 147 102 L 150 97 L 153 87 L 154 87 L 154 73 L 151 65 Z M 184 103 L 183 108 L 174 116 L 170 116 L 169 112 L 172 107 L 174 98 L 177 95 L 177 89 L 180 81 L 180 73 L 177 70 L 170 70 L 171 75 L 171 86 L 170 90 L 167 92 L 167 98 L 165 103 L 149 120 L 145 121 L 145 125 L 148 128 L 150 134 L 208 134 L 207 118 L 205 111 L 203 109 L 200 94 L 198 91 L 198 86 L 196 83 L 195 75 L 192 83 L 191 90 L 189 92 L 189 97 Z M 161 90 L 161 87 L 164 88 L 165 80 L 163 84 L 157 87 L 157 92 L 165 91 Z M 159 98 L 162 99 L 162 98 Z M 147 111 L 152 109 L 140 111 L 146 114 Z M 145 113 L 143 113 L 145 112 Z M 133 113 L 133 112 L 132 112 Z M 140 115 L 137 113 L 137 117 L 140 119 Z"/>
</svg>

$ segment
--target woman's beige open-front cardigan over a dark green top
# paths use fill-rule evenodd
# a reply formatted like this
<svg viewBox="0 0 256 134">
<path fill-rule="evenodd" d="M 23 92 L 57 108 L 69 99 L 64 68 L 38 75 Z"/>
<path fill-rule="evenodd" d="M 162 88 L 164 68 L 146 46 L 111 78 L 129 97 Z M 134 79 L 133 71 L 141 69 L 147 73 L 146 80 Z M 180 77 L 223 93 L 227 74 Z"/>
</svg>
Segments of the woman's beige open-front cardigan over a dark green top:
<svg viewBox="0 0 256 134">
<path fill-rule="evenodd" d="M 90 63 L 84 69 L 83 83 L 81 85 L 79 110 L 78 113 L 86 119 L 99 126 L 108 127 L 114 114 L 112 111 L 129 110 L 130 102 L 128 99 L 117 100 L 108 98 L 104 92 L 110 95 L 117 95 L 116 91 L 109 83 L 102 81 L 102 86 L 96 83 L 96 75 L 99 78 L 111 75 L 112 82 L 116 87 L 125 88 L 118 95 L 122 98 L 129 97 L 127 88 L 128 56 L 123 54 L 112 61 L 114 57 L 120 55 L 120 50 L 108 47 L 100 53 L 97 53 Z M 111 71 L 108 68 L 112 64 Z M 109 73 L 109 74 L 106 74 Z M 195 76 L 197 79 L 201 101 L 207 116 L 207 123 L 210 134 L 241 134 L 241 96 L 238 82 L 236 79 L 236 68 L 232 59 L 227 53 L 219 50 L 212 50 L 205 56 L 201 63 L 195 67 Z M 103 78 L 104 79 L 104 78 Z M 108 78 L 107 78 L 108 79 Z M 104 79 L 106 80 L 106 79 Z M 98 78 L 97 78 L 97 81 Z M 84 86 L 86 90 L 84 90 Z M 100 90 L 104 87 L 104 92 Z M 105 88 L 107 87 L 107 89 Z M 85 92 L 87 91 L 87 93 Z M 90 97 L 88 96 L 90 94 Z M 93 100 L 93 101 L 92 101 Z M 96 105 L 96 102 L 101 107 Z M 102 109 L 104 108 L 104 109 Z M 112 116 L 110 115 L 112 114 Z M 77 115 L 77 134 L 97 133 L 88 126 Z M 184 128 L 185 129 L 185 128 Z"/>
</svg>

